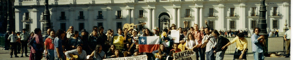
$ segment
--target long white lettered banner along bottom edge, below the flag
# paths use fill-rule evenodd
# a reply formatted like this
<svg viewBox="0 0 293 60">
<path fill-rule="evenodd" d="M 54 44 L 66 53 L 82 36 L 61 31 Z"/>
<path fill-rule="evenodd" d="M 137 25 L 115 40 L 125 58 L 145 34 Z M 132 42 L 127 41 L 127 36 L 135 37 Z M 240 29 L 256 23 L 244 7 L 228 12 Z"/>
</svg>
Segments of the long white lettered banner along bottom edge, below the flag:
<svg viewBox="0 0 293 60">
<path fill-rule="evenodd" d="M 133 56 L 133 57 L 109 58 L 109 59 L 103 59 L 103 60 L 147 60 L 147 56 L 140 55 L 140 56 Z"/>
</svg>

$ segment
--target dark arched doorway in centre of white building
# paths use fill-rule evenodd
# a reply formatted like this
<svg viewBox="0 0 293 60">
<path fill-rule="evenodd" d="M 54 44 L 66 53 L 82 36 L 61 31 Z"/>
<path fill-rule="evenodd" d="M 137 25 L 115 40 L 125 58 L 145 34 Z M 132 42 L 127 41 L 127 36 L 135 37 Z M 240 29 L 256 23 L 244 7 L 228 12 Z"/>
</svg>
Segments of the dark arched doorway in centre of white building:
<svg viewBox="0 0 293 60">
<path fill-rule="evenodd" d="M 168 13 L 163 12 L 159 15 L 159 28 L 162 31 L 164 28 L 170 27 L 170 16 Z"/>
</svg>

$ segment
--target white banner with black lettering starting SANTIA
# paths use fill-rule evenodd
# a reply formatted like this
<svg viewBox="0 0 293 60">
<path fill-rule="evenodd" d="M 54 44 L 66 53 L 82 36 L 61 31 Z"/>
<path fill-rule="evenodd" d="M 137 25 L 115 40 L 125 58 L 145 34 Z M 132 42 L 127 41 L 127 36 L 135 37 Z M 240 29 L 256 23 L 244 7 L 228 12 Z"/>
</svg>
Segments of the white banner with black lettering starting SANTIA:
<svg viewBox="0 0 293 60">
<path fill-rule="evenodd" d="M 196 54 L 194 51 L 185 50 L 178 53 L 173 53 L 176 60 L 196 60 Z"/>
</svg>

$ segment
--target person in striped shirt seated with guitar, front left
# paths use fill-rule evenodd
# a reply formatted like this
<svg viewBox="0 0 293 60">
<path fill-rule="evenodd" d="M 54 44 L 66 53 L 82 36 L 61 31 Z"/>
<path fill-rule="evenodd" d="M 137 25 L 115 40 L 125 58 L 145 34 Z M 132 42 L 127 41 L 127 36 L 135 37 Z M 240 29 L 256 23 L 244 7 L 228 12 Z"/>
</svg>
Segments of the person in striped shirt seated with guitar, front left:
<svg viewBox="0 0 293 60">
<path fill-rule="evenodd" d="M 65 55 L 67 58 L 69 58 L 70 60 L 75 59 L 72 56 L 70 56 L 70 54 L 78 55 L 78 59 L 76 60 L 86 60 L 86 52 L 82 50 L 82 47 L 80 44 L 76 45 L 76 49 L 65 52 Z"/>
</svg>

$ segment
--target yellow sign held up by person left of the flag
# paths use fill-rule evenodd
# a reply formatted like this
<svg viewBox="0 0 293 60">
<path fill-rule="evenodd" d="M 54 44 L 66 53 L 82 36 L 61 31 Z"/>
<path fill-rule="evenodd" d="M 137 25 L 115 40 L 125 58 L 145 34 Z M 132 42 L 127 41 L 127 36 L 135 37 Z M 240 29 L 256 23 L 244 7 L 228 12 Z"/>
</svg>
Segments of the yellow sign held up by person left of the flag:
<svg viewBox="0 0 293 60">
<path fill-rule="evenodd" d="M 113 38 L 113 45 L 115 45 L 116 49 L 118 49 L 120 52 L 122 52 L 122 49 L 124 47 L 123 39 L 123 36 L 114 36 Z"/>
</svg>

